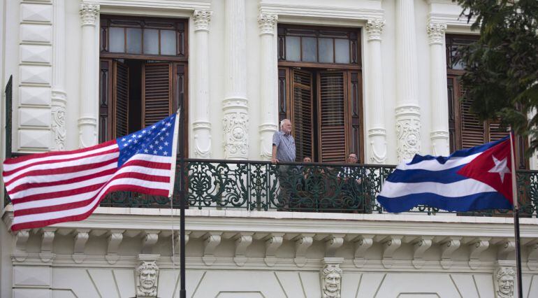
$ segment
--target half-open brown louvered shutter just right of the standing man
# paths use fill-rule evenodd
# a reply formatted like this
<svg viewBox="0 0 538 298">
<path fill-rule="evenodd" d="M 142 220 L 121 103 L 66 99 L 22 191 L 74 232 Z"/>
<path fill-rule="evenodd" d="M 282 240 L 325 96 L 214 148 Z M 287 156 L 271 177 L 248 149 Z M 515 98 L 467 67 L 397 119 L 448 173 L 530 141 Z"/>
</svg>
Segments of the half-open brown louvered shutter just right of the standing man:
<svg viewBox="0 0 538 298">
<path fill-rule="evenodd" d="M 293 69 L 292 71 L 292 127 L 296 142 L 296 161 L 302 162 L 305 156 L 313 157 L 312 119 L 312 73 Z"/>
</svg>

